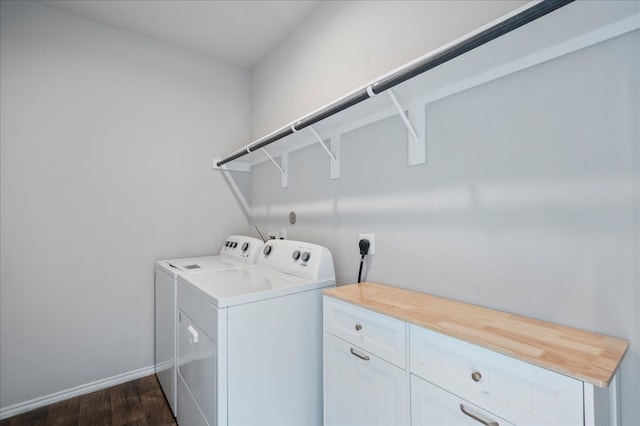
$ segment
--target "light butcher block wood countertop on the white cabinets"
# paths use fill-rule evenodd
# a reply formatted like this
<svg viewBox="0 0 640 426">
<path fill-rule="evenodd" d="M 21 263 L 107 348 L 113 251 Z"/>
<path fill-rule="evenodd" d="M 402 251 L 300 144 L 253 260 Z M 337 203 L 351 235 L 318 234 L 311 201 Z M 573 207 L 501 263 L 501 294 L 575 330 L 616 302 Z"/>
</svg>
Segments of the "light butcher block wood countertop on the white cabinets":
<svg viewBox="0 0 640 426">
<path fill-rule="evenodd" d="M 609 385 L 629 347 L 626 340 L 382 284 L 324 294 L 600 387 Z"/>
</svg>

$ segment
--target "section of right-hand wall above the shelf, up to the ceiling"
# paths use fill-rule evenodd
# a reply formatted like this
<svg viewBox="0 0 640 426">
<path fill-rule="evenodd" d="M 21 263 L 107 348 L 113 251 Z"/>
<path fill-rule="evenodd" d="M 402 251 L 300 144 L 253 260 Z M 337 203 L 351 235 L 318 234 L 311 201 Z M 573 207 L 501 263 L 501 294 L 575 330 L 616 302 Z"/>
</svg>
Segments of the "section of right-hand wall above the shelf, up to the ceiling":
<svg viewBox="0 0 640 426">
<path fill-rule="evenodd" d="M 252 140 L 526 3 L 322 1 L 253 71 Z"/>
</svg>

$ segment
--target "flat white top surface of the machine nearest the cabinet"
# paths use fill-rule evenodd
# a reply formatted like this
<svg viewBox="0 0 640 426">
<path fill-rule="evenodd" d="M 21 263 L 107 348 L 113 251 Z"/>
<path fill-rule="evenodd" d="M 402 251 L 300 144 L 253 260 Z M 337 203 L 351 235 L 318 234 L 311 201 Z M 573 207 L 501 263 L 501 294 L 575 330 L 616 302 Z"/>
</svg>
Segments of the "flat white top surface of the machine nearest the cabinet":
<svg viewBox="0 0 640 426">
<path fill-rule="evenodd" d="M 255 265 L 190 274 L 178 280 L 218 308 L 335 285 L 335 279 L 315 281 Z"/>
</svg>

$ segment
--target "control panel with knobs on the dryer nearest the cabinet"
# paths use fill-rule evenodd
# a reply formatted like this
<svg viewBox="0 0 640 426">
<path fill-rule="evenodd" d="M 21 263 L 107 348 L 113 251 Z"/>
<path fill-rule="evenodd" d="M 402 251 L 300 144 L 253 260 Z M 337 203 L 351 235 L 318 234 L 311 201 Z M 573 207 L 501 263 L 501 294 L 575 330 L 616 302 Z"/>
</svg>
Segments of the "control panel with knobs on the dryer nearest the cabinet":
<svg viewBox="0 0 640 426">
<path fill-rule="evenodd" d="M 257 264 L 312 280 L 335 279 L 331 252 L 313 243 L 269 240 Z"/>
</svg>

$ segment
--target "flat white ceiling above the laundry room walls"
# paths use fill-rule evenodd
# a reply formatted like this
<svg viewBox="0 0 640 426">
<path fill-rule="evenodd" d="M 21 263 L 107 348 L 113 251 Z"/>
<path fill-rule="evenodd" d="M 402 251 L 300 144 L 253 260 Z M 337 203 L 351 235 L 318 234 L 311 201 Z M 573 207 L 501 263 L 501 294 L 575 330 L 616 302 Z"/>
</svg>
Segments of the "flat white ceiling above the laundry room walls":
<svg viewBox="0 0 640 426">
<path fill-rule="evenodd" d="M 40 0 L 81 17 L 254 68 L 320 0 Z"/>
</svg>

